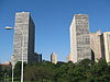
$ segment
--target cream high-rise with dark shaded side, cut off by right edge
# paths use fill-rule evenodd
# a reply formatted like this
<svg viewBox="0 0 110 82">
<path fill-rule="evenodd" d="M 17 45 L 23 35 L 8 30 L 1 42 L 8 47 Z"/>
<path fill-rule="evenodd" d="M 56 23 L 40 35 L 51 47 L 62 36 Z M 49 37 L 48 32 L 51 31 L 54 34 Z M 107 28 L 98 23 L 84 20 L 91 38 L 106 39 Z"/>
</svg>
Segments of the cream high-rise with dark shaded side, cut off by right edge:
<svg viewBox="0 0 110 82">
<path fill-rule="evenodd" d="M 102 58 L 106 58 L 107 62 L 110 62 L 110 32 L 101 35 L 101 51 Z"/>
</svg>

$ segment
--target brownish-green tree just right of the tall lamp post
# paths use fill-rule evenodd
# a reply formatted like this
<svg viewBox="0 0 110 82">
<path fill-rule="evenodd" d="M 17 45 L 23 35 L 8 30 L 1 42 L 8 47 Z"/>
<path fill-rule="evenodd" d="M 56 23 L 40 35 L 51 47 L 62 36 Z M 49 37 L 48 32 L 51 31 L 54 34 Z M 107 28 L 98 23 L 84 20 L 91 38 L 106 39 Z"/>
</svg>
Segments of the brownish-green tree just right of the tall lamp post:
<svg viewBox="0 0 110 82">
<path fill-rule="evenodd" d="M 30 67 L 31 66 L 31 67 Z M 25 68 L 25 81 L 52 81 L 54 78 L 54 65 L 48 61 L 29 65 Z"/>
</svg>

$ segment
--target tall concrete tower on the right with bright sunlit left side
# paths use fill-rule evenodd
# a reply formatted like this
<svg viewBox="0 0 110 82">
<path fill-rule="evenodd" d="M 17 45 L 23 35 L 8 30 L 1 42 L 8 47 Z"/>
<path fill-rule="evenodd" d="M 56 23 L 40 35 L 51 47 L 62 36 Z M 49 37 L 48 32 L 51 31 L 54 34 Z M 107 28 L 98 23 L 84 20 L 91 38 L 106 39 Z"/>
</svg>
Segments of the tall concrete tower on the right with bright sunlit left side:
<svg viewBox="0 0 110 82">
<path fill-rule="evenodd" d="M 70 25 L 69 61 L 77 62 L 91 59 L 90 35 L 87 14 L 75 14 Z"/>
</svg>

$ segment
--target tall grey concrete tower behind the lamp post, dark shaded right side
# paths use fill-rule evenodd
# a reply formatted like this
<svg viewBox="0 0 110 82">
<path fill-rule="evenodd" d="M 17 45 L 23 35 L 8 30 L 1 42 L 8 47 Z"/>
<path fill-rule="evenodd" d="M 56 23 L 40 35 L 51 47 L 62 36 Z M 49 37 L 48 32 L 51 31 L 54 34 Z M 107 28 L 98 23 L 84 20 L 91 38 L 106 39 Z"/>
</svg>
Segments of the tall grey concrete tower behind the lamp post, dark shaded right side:
<svg viewBox="0 0 110 82">
<path fill-rule="evenodd" d="M 35 25 L 30 12 L 15 13 L 12 65 L 18 61 L 32 62 L 34 59 Z"/>
</svg>

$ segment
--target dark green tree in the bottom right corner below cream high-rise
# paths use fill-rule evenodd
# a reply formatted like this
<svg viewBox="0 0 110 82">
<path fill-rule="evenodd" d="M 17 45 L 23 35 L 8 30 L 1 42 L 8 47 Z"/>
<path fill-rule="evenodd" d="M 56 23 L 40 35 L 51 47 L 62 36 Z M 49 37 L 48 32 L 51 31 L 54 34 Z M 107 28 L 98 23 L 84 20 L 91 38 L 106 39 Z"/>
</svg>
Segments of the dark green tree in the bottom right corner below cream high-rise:
<svg viewBox="0 0 110 82">
<path fill-rule="evenodd" d="M 91 77 L 95 82 L 109 82 L 110 81 L 110 67 L 105 59 L 100 59 L 92 66 Z"/>
</svg>

